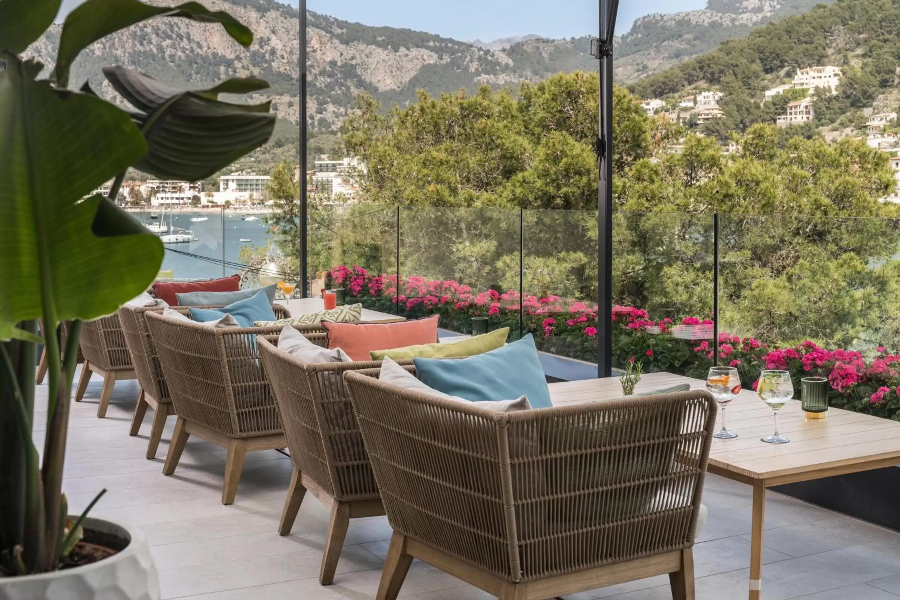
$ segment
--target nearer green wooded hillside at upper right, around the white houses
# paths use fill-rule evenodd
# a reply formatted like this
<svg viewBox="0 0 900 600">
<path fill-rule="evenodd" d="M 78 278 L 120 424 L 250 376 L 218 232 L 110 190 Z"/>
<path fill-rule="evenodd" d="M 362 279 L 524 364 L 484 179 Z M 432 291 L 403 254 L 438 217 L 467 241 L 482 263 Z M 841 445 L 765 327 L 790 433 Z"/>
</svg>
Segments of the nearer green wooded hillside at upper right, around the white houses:
<svg viewBox="0 0 900 600">
<path fill-rule="evenodd" d="M 708 133 L 727 139 L 756 122 L 774 122 L 784 114 L 788 95 L 762 103 L 763 93 L 789 83 L 798 68 L 840 67 L 835 94 L 815 94 L 815 119 L 802 135 L 816 130 L 829 138 L 860 131 L 871 112 L 896 111 L 900 103 L 900 3 L 896 0 L 838 0 L 818 4 L 809 13 L 760 27 L 713 52 L 681 62 L 631 85 L 642 98 L 679 100 L 685 94 L 716 88 L 724 94 L 724 118 Z M 797 90 L 791 90 L 797 93 Z M 805 95 L 800 93 L 801 96 Z"/>
</svg>

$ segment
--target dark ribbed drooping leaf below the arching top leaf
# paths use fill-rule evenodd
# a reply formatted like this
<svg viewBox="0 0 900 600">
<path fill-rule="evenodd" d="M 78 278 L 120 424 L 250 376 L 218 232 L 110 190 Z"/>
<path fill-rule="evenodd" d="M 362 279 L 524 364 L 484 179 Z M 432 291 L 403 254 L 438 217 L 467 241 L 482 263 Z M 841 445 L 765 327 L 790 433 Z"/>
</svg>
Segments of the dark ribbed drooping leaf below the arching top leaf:
<svg viewBox="0 0 900 600">
<path fill-rule="evenodd" d="M 230 79 L 210 89 L 184 92 L 124 67 L 103 74 L 142 112 L 132 114 L 149 146 L 135 168 L 160 179 L 197 181 L 214 175 L 272 137 L 269 103 L 231 104 L 218 94 L 263 89 L 259 79 Z"/>
</svg>

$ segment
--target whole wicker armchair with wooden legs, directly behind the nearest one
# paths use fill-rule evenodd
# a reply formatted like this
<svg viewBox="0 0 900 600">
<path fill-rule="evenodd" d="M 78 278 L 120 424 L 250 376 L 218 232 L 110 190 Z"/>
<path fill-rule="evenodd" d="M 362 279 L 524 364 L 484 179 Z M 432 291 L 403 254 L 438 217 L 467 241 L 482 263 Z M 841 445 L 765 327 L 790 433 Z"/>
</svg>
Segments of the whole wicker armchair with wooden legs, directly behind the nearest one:
<svg viewBox="0 0 900 600">
<path fill-rule="evenodd" d="M 276 347 L 278 336 L 257 338 L 259 355 L 284 423 L 293 461 L 291 487 L 278 533 L 291 533 L 309 490 L 331 510 L 319 582 L 329 586 L 350 519 L 384 515 L 381 497 L 342 375 L 378 363 L 305 363 Z M 412 361 L 401 361 L 412 364 Z"/>
</svg>

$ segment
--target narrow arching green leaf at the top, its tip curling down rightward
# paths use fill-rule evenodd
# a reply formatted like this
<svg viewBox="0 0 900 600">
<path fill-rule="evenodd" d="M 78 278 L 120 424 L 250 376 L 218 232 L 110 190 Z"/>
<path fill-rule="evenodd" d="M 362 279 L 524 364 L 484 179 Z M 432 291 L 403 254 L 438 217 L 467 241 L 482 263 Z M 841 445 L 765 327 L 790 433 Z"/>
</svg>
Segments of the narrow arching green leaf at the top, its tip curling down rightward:
<svg viewBox="0 0 900 600">
<path fill-rule="evenodd" d="M 60 87 L 66 87 L 69 69 L 83 49 L 111 33 L 157 16 L 218 22 L 245 48 L 253 42 L 253 32 L 229 13 L 211 11 L 196 2 L 169 7 L 144 4 L 139 0 L 87 0 L 66 17 L 59 36 L 59 53 L 52 79 Z"/>
</svg>

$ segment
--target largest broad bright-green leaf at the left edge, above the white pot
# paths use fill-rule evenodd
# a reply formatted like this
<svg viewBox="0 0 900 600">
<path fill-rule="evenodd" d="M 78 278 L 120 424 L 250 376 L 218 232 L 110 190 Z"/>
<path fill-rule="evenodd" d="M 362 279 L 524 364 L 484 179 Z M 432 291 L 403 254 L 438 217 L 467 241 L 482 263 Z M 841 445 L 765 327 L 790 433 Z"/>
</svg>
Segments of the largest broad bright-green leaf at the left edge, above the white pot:
<svg viewBox="0 0 900 600">
<path fill-rule="evenodd" d="M 15 324 L 109 314 L 153 281 L 164 249 L 102 196 L 79 201 L 146 152 L 128 115 L 33 81 L 0 54 L 0 340 Z"/>
</svg>

